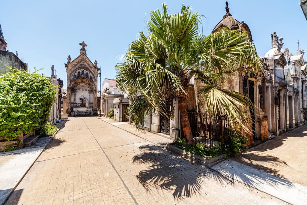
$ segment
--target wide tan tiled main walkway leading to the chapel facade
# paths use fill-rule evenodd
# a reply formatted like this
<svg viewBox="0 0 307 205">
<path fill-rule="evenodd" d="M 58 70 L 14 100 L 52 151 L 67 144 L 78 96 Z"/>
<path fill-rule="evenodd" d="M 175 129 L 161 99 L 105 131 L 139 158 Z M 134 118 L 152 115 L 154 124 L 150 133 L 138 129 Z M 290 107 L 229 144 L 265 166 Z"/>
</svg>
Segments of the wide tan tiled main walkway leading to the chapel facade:
<svg viewBox="0 0 307 205">
<path fill-rule="evenodd" d="M 164 137 L 130 131 L 69 118 L 6 204 L 284 203 L 169 153 Z"/>
</svg>

